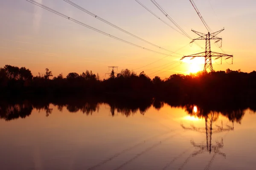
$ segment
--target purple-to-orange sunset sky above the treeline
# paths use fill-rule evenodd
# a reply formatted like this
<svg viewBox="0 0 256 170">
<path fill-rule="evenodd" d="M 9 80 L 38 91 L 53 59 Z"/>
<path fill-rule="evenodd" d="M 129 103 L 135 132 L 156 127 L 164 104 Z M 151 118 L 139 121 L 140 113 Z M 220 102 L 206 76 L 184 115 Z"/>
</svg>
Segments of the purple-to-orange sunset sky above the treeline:
<svg viewBox="0 0 256 170">
<path fill-rule="evenodd" d="M 64 0 L 36 0 L 108 34 L 140 45 L 144 48 L 171 54 L 97 20 Z M 140 6 L 135 0 L 71 0 L 99 17 L 119 26 L 144 40 L 178 54 L 161 55 L 120 42 L 90 30 L 77 23 L 53 14 L 26 0 L 0 0 L 0 67 L 15 65 L 26 67 L 34 76 L 52 71 L 53 76 L 70 72 L 81 74 L 92 70 L 102 79 L 107 78 L 108 66 L 118 66 L 118 71 L 128 68 L 149 77 L 169 77 L 171 74 L 189 74 L 204 68 L 204 57 L 193 60 L 180 58 L 205 51 L 189 38 L 177 33 Z M 189 0 L 156 0 L 173 20 L 192 38 L 191 31 L 207 33 Z M 140 0 L 167 23 L 172 23 L 158 10 L 151 0 Z M 194 0 L 201 15 L 213 31 L 225 28 L 220 37 L 222 48 L 232 60 L 212 58 L 215 71 L 238 70 L 251 72 L 256 62 L 256 1 L 255 0 Z M 174 25 L 172 25 L 175 27 Z M 204 47 L 205 41 L 198 43 Z M 220 48 L 212 42 L 212 51 Z M 178 50 L 178 51 L 177 51 Z"/>
</svg>

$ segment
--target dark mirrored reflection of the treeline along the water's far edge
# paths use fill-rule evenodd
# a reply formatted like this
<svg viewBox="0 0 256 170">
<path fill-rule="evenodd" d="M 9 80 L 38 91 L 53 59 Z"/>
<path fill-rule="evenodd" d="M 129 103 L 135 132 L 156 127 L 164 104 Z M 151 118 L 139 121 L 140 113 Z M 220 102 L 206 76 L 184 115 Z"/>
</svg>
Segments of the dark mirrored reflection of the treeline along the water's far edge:
<svg viewBox="0 0 256 170">
<path fill-rule="evenodd" d="M 89 98 L 52 98 L 52 99 L 5 99 L 0 100 L 0 119 L 10 121 L 12 119 L 26 118 L 29 116 L 33 109 L 40 113 L 45 113 L 46 116 L 50 116 L 53 108 L 50 105 L 54 105 L 58 108 L 58 111 L 63 111 L 63 108 L 67 109 L 70 113 L 81 112 L 86 115 L 92 115 L 99 112 L 102 104 L 109 105 L 109 113 L 115 116 L 121 113 L 123 116 L 131 116 L 135 113 L 145 114 L 148 108 L 151 106 L 156 110 L 160 110 L 164 106 L 165 102 L 157 99 L 115 99 L 109 97 L 89 97 Z M 195 105 L 176 105 L 176 103 L 167 102 L 167 105 L 172 108 L 183 108 L 189 115 L 197 116 L 199 118 L 206 117 L 208 114 L 215 112 L 216 115 L 223 115 L 227 117 L 231 122 L 241 123 L 241 119 L 248 109 L 245 106 L 233 107 L 211 107 L 207 105 L 197 105 L 197 112 L 193 111 Z M 256 112 L 255 106 L 250 107 L 250 110 Z"/>
</svg>

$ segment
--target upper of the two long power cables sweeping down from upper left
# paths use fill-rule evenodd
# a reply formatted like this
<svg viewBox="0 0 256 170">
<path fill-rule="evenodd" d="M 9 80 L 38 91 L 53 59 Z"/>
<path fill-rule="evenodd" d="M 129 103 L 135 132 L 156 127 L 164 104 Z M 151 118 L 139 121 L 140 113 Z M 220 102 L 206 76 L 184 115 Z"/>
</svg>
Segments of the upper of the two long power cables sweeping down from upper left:
<svg viewBox="0 0 256 170">
<path fill-rule="evenodd" d="M 120 28 L 119 26 L 116 26 L 116 25 L 114 25 L 113 23 L 108 22 L 107 20 L 105 20 L 105 19 L 99 17 L 99 16 L 96 15 L 96 14 L 93 14 L 92 12 L 90 12 L 90 11 L 88 11 L 88 10 L 82 8 L 81 6 L 77 5 L 76 3 L 73 3 L 73 2 L 70 1 L 70 0 L 64 0 L 64 1 L 67 2 L 67 3 L 69 3 L 70 5 L 72 5 L 72 6 L 76 7 L 76 8 L 78 8 L 78 9 L 80 9 L 81 11 L 84 11 L 85 13 L 87 13 L 87 14 L 89 14 L 89 15 L 95 17 L 95 18 L 97 18 L 98 20 L 101 20 L 102 22 L 107 23 L 108 25 L 110 25 L 110 26 L 112 26 L 112 27 L 114 27 L 114 28 L 116 28 L 116 29 L 118 29 L 118 30 L 120 30 L 120 31 L 122 31 L 122 32 L 131 35 L 132 37 L 135 37 L 135 38 L 137 38 L 137 39 L 139 39 L 139 40 L 141 40 L 141 41 L 143 41 L 143 42 L 146 42 L 146 43 L 148 43 L 148 44 L 150 44 L 150 45 L 153 45 L 154 47 L 160 48 L 160 49 L 162 49 L 162 50 L 169 51 L 169 52 L 173 52 L 173 51 L 170 51 L 170 50 L 168 50 L 168 49 L 166 49 L 166 48 L 160 47 L 159 45 L 155 45 L 155 44 L 153 44 L 153 43 L 151 43 L 151 42 L 148 42 L 147 40 L 144 40 L 143 38 L 140 38 L 140 37 L 138 37 L 138 36 L 132 34 L 131 32 L 126 31 L 126 30 Z M 175 52 L 173 52 L 173 53 L 175 53 Z"/>
</svg>

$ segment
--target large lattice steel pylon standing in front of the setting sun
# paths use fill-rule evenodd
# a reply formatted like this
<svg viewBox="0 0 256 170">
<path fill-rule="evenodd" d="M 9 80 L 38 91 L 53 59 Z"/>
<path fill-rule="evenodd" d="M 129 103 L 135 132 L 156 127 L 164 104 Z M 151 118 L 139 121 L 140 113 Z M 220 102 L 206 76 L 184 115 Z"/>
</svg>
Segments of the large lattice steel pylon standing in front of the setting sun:
<svg viewBox="0 0 256 170">
<path fill-rule="evenodd" d="M 224 28 L 221 29 L 220 31 L 217 31 L 217 32 L 214 32 L 211 34 L 209 32 L 207 34 L 204 34 L 204 33 L 201 33 L 201 32 L 198 32 L 198 31 L 195 31 L 192 29 L 192 31 L 195 34 L 198 34 L 200 36 L 199 38 L 193 39 L 192 42 L 194 42 L 195 40 L 205 40 L 205 52 L 192 54 L 189 56 L 184 56 L 180 60 L 182 60 L 186 57 L 192 57 L 191 59 L 194 59 L 195 57 L 204 57 L 205 58 L 204 59 L 205 60 L 204 61 L 204 72 L 207 72 L 207 70 L 209 70 L 210 72 L 213 71 L 212 57 L 217 57 L 216 59 L 221 58 L 221 63 L 222 63 L 222 57 L 227 57 L 226 59 L 229 59 L 232 57 L 232 64 L 233 64 L 233 55 L 221 54 L 221 53 L 211 51 L 211 40 L 216 40 L 215 43 L 217 43 L 219 41 L 221 41 L 221 43 L 222 43 L 222 38 L 216 37 L 216 35 L 221 33 L 223 30 L 224 30 Z M 192 42 L 190 42 L 190 43 L 192 43 Z"/>
</svg>

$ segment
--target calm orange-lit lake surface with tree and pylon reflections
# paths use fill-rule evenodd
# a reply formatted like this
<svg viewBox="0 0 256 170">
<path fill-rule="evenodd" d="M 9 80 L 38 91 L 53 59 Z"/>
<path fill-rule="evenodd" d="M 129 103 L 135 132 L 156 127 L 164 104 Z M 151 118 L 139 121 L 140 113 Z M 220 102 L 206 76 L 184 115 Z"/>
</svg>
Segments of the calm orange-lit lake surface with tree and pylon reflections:
<svg viewBox="0 0 256 170">
<path fill-rule="evenodd" d="M 5 103 L 0 115 L 0 170 L 256 167 L 256 114 L 250 109 L 24 102 Z"/>
</svg>

